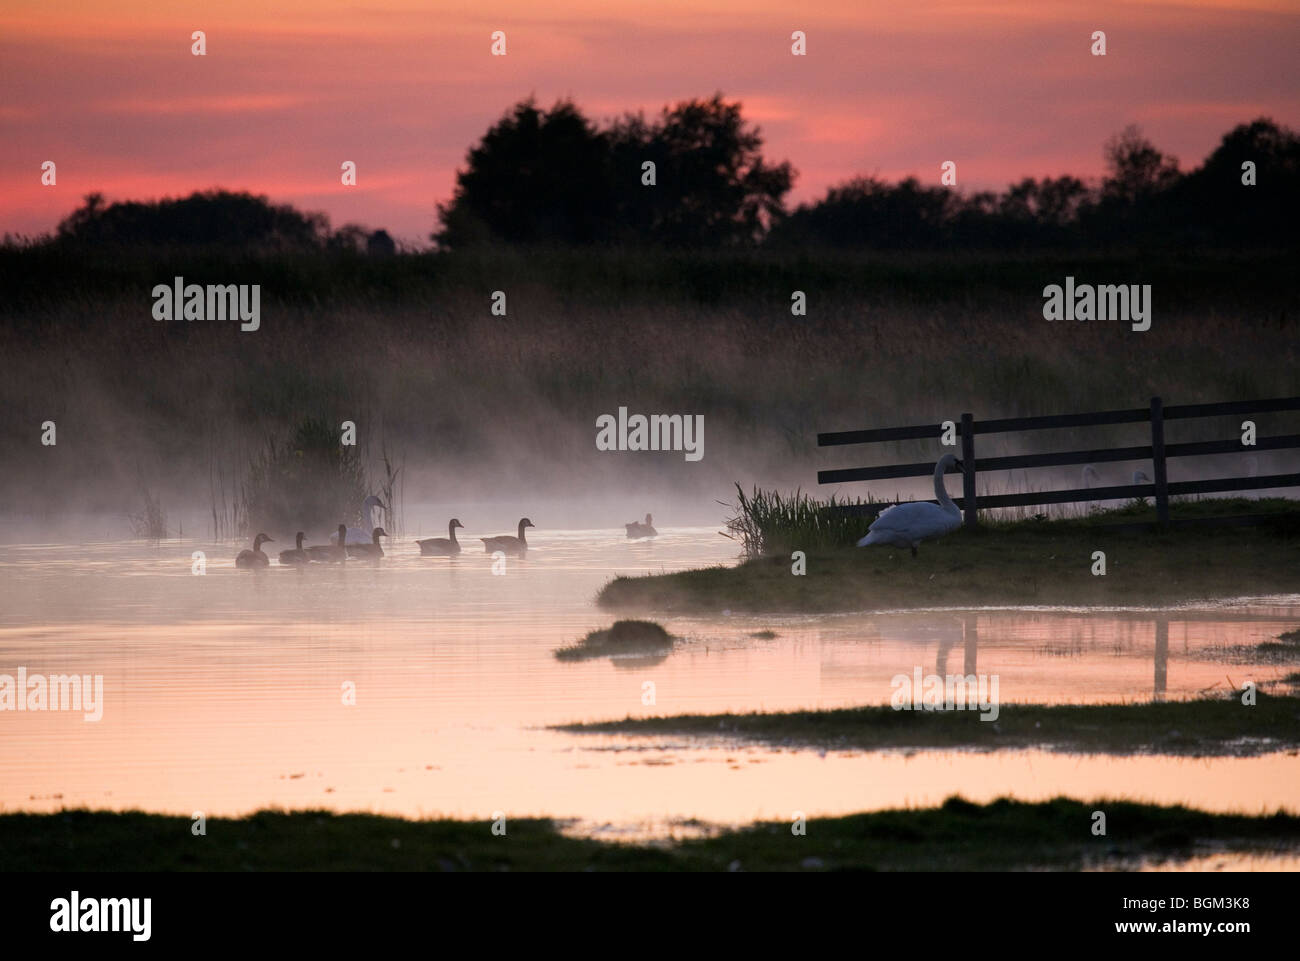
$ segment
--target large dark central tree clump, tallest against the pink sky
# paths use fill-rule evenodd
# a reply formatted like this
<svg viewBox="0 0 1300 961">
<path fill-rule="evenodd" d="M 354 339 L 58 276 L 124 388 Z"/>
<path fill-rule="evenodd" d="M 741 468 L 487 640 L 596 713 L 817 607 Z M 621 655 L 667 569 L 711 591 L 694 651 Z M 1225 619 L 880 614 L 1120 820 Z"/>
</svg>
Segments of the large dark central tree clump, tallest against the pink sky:
<svg viewBox="0 0 1300 961">
<path fill-rule="evenodd" d="M 482 243 L 758 242 L 783 213 L 794 173 L 767 164 L 762 137 L 722 95 L 628 114 L 597 129 L 571 101 L 516 104 L 471 148 L 450 203 L 443 247 Z M 642 165 L 655 165 L 655 185 Z"/>
</svg>

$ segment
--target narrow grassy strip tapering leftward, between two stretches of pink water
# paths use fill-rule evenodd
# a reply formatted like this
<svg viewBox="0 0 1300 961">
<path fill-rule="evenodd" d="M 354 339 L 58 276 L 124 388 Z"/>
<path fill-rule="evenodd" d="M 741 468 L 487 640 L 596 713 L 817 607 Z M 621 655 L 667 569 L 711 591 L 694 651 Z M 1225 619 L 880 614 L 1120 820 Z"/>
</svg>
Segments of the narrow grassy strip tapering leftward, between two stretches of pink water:
<svg viewBox="0 0 1300 961">
<path fill-rule="evenodd" d="M 571 733 L 727 737 L 836 750 L 1046 748 L 1087 754 L 1243 757 L 1300 748 L 1300 698 L 1239 697 L 1127 705 L 1002 705 L 978 711 L 889 706 L 770 714 L 681 714 L 566 724 Z"/>
</svg>

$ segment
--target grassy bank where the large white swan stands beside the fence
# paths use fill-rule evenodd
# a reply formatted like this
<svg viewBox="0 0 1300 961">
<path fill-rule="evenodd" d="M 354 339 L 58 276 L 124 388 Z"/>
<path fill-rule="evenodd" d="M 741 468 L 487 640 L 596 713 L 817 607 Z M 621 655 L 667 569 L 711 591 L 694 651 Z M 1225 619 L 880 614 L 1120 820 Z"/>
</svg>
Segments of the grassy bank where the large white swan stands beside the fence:
<svg viewBox="0 0 1300 961">
<path fill-rule="evenodd" d="M 1217 502 L 1223 512 L 1258 510 Z M 788 555 L 734 567 L 616 577 L 598 602 L 608 610 L 668 612 L 871 611 L 924 606 L 1135 605 L 1300 592 L 1296 502 L 1252 528 L 1117 531 L 1104 519 L 1018 521 L 959 529 L 906 549 L 841 547 L 807 553 L 807 572 Z M 1180 512 L 1206 515 L 1213 503 Z M 1153 519 L 1143 511 L 1124 520 Z M 1102 551 L 1106 573 L 1092 573 Z"/>
</svg>

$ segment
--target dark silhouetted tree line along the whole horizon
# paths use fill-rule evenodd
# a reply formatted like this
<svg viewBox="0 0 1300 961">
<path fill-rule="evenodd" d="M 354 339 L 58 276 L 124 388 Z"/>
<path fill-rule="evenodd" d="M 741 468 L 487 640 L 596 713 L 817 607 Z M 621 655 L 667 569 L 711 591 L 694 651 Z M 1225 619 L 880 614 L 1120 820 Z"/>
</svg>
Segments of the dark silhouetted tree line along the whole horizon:
<svg viewBox="0 0 1300 961">
<path fill-rule="evenodd" d="M 1178 160 L 1126 127 L 1096 182 L 1063 174 L 962 192 L 909 177 L 855 177 L 794 209 L 796 170 L 763 156 L 760 130 L 720 94 L 603 125 L 571 100 L 515 104 L 473 144 L 430 239 L 621 247 L 868 250 L 1291 247 L 1300 218 L 1300 137 L 1269 118 L 1227 131 L 1205 161 Z M 213 191 L 153 203 L 91 195 L 64 242 L 216 244 L 389 254 L 391 238 L 324 215 Z"/>
</svg>

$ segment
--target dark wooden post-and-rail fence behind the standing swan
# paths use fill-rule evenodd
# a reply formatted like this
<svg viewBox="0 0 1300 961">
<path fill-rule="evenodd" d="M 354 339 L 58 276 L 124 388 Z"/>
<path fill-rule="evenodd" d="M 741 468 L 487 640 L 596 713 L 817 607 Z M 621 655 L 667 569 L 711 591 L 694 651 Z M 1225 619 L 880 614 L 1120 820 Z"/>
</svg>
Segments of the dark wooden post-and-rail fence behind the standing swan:
<svg viewBox="0 0 1300 961">
<path fill-rule="evenodd" d="M 1130 497 L 1154 497 L 1156 516 L 1162 524 L 1169 523 L 1169 498 L 1180 494 L 1206 494 L 1231 490 L 1265 490 L 1270 488 L 1300 486 L 1300 473 L 1273 473 L 1262 477 L 1217 477 L 1197 481 L 1170 482 L 1167 462 L 1170 458 L 1204 456 L 1208 454 L 1247 454 L 1265 450 L 1300 449 L 1300 434 L 1274 434 L 1256 437 L 1253 445 L 1244 445 L 1240 438 L 1228 441 L 1193 441 L 1186 443 L 1165 443 L 1165 421 L 1192 417 L 1221 417 L 1240 414 L 1270 414 L 1277 411 L 1300 411 L 1300 397 L 1283 397 L 1271 401 L 1227 401 L 1223 403 L 1199 403 L 1165 407 L 1161 398 L 1153 397 L 1149 407 L 1135 407 L 1123 411 L 1092 411 L 1086 414 L 1060 414 L 1041 417 L 1004 417 L 1000 420 L 975 420 L 974 415 L 963 414 L 956 424 L 956 436 L 961 438 L 962 495 L 953 502 L 962 510 L 967 527 L 976 523 L 976 511 L 994 507 L 1023 507 L 1049 503 L 1078 503 L 1084 501 L 1112 501 Z M 1092 450 L 1063 450 L 1048 454 L 1015 454 L 1009 456 L 979 458 L 975 453 L 975 438 L 979 434 L 1019 433 L 1023 430 L 1046 430 L 1070 427 L 1098 427 L 1105 424 L 1150 424 L 1150 443 L 1130 447 L 1096 447 Z M 916 427 L 889 427 L 868 430 L 840 430 L 818 434 L 819 447 L 837 447 L 853 443 L 883 443 L 888 441 L 937 440 L 944 433 L 942 424 L 923 424 Z M 985 494 L 978 497 L 975 480 L 980 471 L 1013 471 L 1034 467 L 1070 467 L 1078 464 L 1098 464 L 1118 460 L 1150 460 L 1153 479 L 1150 484 L 1123 484 L 1106 488 L 1071 488 L 1069 490 L 1040 490 L 1023 494 Z M 844 484 L 849 481 L 887 480 L 892 477 L 922 477 L 933 473 L 933 462 L 911 464 L 890 464 L 884 467 L 846 467 L 818 471 L 818 484 Z M 845 506 L 849 514 L 878 514 L 885 503 Z"/>
</svg>

